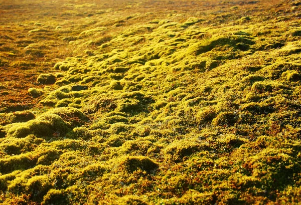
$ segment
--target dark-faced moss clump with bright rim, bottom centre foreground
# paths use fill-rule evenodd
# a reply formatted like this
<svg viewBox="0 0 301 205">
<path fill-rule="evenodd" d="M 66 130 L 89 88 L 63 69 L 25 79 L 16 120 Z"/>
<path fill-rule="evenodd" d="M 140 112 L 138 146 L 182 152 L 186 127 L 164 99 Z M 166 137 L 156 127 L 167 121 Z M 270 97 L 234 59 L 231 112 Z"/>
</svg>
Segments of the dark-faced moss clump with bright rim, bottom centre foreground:
<svg viewBox="0 0 301 205">
<path fill-rule="evenodd" d="M 150 173 L 156 171 L 158 164 L 145 156 L 128 156 L 120 162 L 119 168 L 130 173 L 138 169 Z"/>
</svg>

